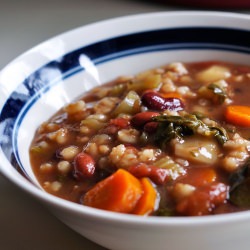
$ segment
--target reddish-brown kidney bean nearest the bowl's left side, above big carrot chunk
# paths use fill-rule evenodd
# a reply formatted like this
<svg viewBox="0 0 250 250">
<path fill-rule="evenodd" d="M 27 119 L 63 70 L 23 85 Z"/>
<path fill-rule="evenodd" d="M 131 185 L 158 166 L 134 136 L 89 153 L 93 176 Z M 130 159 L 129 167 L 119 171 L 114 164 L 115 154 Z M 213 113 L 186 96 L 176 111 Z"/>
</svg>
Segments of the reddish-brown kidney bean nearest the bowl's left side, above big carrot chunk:
<svg viewBox="0 0 250 250">
<path fill-rule="evenodd" d="M 91 155 L 79 153 L 74 159 L 73 176 L 76 179 L 91 178 L 95 174 L 95 160 Z"/>
</svg>

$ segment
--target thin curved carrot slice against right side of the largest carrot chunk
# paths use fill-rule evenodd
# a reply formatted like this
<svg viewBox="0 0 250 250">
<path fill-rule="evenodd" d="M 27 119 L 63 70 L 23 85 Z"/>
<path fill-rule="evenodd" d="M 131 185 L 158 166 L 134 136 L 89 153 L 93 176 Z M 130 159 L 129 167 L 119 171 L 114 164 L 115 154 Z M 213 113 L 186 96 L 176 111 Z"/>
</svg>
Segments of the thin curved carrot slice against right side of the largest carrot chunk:
<svg viewBox="0 0 250 250">
<path fill-rule="evenodd" d="M 157 191 L 154 188 L 152 182 L 146 177 L 141 179 L 141 184 L 143 195 L 141 196 L 132 213 L 137 215 L 149 215 L 156 208 L 158 200 Z"/>
</svg>

